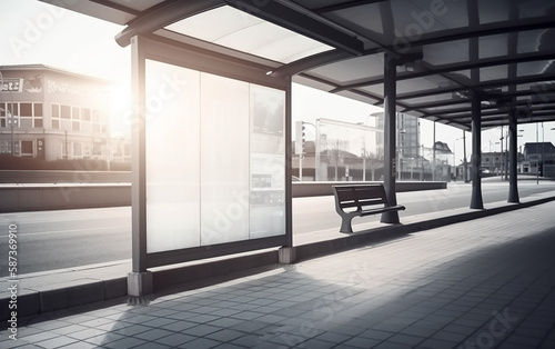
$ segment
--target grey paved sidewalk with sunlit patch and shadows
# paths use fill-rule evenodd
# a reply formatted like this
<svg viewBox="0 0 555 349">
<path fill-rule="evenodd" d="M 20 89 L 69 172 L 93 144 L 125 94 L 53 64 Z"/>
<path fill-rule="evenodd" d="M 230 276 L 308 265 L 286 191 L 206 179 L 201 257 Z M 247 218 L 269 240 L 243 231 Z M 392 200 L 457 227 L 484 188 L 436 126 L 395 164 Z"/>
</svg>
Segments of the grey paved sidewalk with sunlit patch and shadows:
<svg viewBox="0 0 555 349">
<path fill-rule="evenodd" d="M 0 348 L 555 348 L 554 212 L 420 231 L 148 306 L 19 319 Z"/>
</svg>

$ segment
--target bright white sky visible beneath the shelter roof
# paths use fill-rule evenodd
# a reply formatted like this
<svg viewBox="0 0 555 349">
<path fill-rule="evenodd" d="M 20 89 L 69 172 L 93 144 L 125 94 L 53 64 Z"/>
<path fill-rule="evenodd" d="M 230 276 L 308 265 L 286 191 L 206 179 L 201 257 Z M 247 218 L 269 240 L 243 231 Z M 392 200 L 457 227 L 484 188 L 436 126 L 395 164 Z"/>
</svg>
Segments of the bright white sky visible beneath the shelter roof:
<svg viewBox="0 0 555 349">
<path fill-rule="evenodd" d="M 2 0 L 0 2 L 0 66 L 40 63 L 113 81 L 112 110 L 123 114 L 130 108 L 131 52 L 114 40 L 123 27 L 81 13 L 50 6 L 38 0 Z M 314 122 L 325 118 L 353 123 L 373 124 L 370 114 L 382 109 L 303 86 L 293 86 L 293 122 Z M 123 118 L 122 118 L 123 119 Z M 112 120 L 112 132 L 125 133 L 123 120 Z M 129 127 L 129 124 L 128 124 Z M 433 122 L 421 121 L 421 142 L 433 146 Z M 537 127 L 537 140 L 555 143 L 555 122 Z M 552 130 L 554 129 L 554 130 Z M 518 146 L 536 142 L 536 124 L 519 124 Z M 507 128 L 484 130 L 482 151 L 501 151 L 500 138 Z M 463 158 L 463 131 L 436 123 L 436 141 L 455 150 L 454 159 Z M 310 133 L 309 133 L 310 140 Z M 505 140 L 503 148 L 505 148 Z M 472 153 L 472 134 L 466 132 L 466 152 Z"/>
</svg>

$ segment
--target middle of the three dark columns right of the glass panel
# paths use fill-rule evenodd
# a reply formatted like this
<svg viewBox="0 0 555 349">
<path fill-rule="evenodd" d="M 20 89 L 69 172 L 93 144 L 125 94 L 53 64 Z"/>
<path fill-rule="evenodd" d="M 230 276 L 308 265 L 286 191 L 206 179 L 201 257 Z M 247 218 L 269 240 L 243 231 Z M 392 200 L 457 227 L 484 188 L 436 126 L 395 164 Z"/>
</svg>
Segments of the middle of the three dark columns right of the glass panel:
<svg viewBox="0 0 555 349">
<path fill-rule="evenodd" d="M 471 91 L 472 99 L 472 199 L 471 209 L 483 209 L 482 200 L 482 107 L 477 91 Z"/>
</svg>

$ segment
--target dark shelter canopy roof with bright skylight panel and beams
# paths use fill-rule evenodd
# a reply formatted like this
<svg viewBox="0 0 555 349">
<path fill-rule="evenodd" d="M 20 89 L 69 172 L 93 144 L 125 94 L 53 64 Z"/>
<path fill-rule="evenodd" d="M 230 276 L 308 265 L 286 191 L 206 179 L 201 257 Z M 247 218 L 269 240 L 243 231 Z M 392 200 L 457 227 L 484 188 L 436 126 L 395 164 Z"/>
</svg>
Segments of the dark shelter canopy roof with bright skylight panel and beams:
<svg viewBox="0 0 555 349">
<path fill-rule="evenodd" d="M 43 0 L 53 4 L 59 1 Z M 274 76 L 383 103 L 386 57 L 400 111 L 471 128 L 555 120 L 555 3 L 549 0 L 94 0 L 70 10 L 135 34 L 208 49 Z"/>
</svg>

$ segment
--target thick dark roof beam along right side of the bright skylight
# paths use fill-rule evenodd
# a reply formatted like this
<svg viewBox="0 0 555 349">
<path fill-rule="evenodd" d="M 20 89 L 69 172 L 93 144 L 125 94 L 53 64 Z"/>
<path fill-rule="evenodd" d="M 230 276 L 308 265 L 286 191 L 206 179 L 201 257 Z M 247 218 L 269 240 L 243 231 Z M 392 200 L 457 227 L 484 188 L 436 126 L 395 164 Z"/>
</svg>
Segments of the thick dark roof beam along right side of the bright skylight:
<svg viewBox="0 0 555 349">
<path fill-rule="evenodd" d="M 293 8 L 278 1 L 263 1 L 256 6 L 246 0 L 225 0 L 225 3 L 352 54 L 360 56 L 364 51 L 363 42 L 354 33 L 300 6 Z"/>
</svg>

